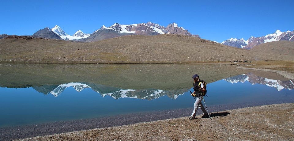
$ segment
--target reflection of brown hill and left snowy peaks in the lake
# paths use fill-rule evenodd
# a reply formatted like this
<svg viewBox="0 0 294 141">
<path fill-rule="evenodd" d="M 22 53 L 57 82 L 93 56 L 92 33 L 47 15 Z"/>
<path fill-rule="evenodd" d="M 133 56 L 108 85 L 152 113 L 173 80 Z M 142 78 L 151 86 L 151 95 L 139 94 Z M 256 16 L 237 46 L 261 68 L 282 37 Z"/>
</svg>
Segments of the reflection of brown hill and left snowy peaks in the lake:
<svg viewBox="0 0 294 141">
<path fill-rule="evenodd" d="M 55 97 L 74 87 L 115 99 L 176 99 L 190 90 L 196 72 L 211 83 L 248 70 L 229 64 L 0 64 L 0 87 L 32 87 Z"/>
</svg>

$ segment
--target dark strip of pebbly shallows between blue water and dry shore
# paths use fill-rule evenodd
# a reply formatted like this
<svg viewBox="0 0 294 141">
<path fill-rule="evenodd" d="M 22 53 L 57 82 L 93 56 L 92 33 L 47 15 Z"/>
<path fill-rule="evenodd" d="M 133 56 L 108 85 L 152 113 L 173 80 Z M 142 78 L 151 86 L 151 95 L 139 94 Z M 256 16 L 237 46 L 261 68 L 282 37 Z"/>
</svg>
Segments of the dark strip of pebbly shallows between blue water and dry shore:
<svg viewBox="0 0 294 141">
<path fill-rule="evenodd" d="M 293 100 L 288 101 L 263 101 L 261 103 L 240 103 L 240 104 L 228 104 L 228 105 L 215 105 L 209 106 L 209 112 L 219 112 L 225 110 L 239 109 L 244 107 L 252 107 L 258 105 L 269 105 L 269 104 L 280 104 L 280 103 L 290 103 Z M 60 121 L 54 123 L 44 123 L 44 124 L 34 124 L 18 127 L 7 127 L 0 128 L 2 136 L 0 140 L 13 140 L 21 138 L 29 138 L 42 135 L 52 135 L 64 132 L 72 131 L 83 131 L 95 128 L 111 128 L 117 126 L 132 125 L 137 123 L 154 122 L 158 120 L 166 120 L 173 118 L 184 118 L 188 119 L 191 108 L 186 109 L 173 109 L 166 111 L 154 111 L 154 112 L 144 112 L 144 113 L 134 113 L 127 115 L 118 115 L 111 117 L 95 118 L 95 119 L 85 119 L 85 120 L 74 120 L 74 121 Z M 201 110 L 198 110 L 198 117 L 202 114 Z M 30 139 L 31 140 L 31 139 Z"/>
</svg>

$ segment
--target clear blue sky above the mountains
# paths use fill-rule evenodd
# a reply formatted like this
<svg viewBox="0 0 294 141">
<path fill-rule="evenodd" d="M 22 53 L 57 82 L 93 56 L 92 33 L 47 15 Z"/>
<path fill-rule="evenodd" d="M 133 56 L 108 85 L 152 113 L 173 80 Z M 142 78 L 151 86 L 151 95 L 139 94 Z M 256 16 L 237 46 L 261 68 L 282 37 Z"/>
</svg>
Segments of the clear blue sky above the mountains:
<svg viewBox="0 0 294 141">
<path fill-rule="evenodd" d="M 102 25 L 146 23 L 179 27 L 202 39 L 265 36 L 294 30 L 292 0 L 156 0 L 156 1 L 2 1 L 0 34 L 32 35 L 60 26 L 67 34 L 92 33 Z"/>
</svg>

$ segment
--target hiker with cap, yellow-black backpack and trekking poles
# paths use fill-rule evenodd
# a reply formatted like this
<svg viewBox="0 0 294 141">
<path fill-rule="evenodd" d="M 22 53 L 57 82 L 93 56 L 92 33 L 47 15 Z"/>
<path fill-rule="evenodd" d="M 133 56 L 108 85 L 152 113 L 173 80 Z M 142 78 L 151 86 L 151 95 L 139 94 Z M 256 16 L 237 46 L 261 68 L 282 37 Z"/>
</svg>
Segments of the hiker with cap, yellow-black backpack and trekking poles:
<svg viewBox="0 0 294 141">
<path fill-rule="evenodd" d="M 202 96 L 201 92 L 204 92 L 206 89 L 205 89 L 203 83 L 200 83 L 200 86 L 199 86 L 200 79 L 199 79 L 199 75 L 198 74 L 195 74 L 192 78 L 194 79 L 194 83 L 193 83 L 194 92 L 191 93 L 191 95 L 193 97 L 196 96 L 197 99 L 196 99 L 196 101 L 194 103 L 194 109 L 193 109 L 192 115 L 189 116 L 189 119 L 190 120 L 192 120 L 192 119 L 195 118 L 196 112 L 197 112 L 197 109 L 198 109 L 199 106 L 201 107 L 200 109 L 203 112 L 203 115 L 201 116 L 201 118 L 208 116 L 208 113 L 206 112 L 204 106 L 201 103 L 201 101 L 203 99 L 203 96 Z"/>
</svg>

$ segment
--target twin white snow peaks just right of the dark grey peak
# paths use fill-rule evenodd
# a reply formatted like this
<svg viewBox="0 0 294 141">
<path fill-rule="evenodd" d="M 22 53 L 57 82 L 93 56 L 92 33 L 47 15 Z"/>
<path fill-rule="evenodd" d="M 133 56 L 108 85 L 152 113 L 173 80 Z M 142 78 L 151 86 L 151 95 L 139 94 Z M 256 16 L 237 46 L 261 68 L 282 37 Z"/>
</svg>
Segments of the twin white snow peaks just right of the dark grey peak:
<svg viewBox="0 0 294 141">
<path fill-rule="evenodd" d="M 53 32 L 55 32 L 58 36 L 60 36 L 63 40 L 77 40 L 86 38 L 90 35 L 86 35 L 85 33 L 81 32 L 81 30 L 77 31 L 74 36 L 70 36 L 66 34 L 58 25 L 56 25 L 54 28 L 51 29 Z M 76 36 L 75 36 L 76 35 Z M 80 36 L 77 36 L 80 35 Z"/>
</svg>

